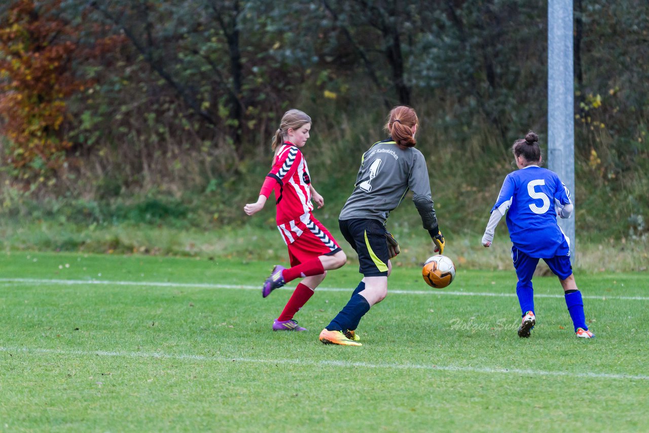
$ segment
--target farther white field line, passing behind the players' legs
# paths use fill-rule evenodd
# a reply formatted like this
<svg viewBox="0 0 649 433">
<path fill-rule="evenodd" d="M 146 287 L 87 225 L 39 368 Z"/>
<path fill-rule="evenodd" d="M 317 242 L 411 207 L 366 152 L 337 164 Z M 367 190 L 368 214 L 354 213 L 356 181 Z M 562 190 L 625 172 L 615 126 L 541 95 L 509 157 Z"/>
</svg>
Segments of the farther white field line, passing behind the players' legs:
<svg viewBox="0 0 649 433">
<path fill-rule="evenodd" d="M 145 286 L 145 287 L 172 287 L 172 288 L 201 288 L 201 289 L 238 289 L 238 290 L 261 290 L 262 285 L 247 286 L 238 284 L 208 284 L 208 283 L 182 283 L 182 282 L 149 282 L 149 281 L 108 281 L 108 280 L 49 280 L 40 278 L 0 278 L 0 285 L 10 286 L 14 284 L 62 284 L 65 286 L 74 285 L 104 285 L 104 286 Z M 284 287 L 282 290 L 293 290 L 294 287 Z M 317 291 L 347 291 L 354 288 L 319 287 Z M 449 290 L 393 290 L 388 293 L 396 295 L 451 295 L 451 296 L 491 296 L 491 297 L 515 297 L 516 293 L 493 293 L 488 291 L 449 291 Z M 561 298 L 561 294 L 534 293 L 535 298 Z M 600 301 L 649 301 L 646 296 L 595 296 L 583 295 L 583 299 L 598 299 Z"/>
</svg>

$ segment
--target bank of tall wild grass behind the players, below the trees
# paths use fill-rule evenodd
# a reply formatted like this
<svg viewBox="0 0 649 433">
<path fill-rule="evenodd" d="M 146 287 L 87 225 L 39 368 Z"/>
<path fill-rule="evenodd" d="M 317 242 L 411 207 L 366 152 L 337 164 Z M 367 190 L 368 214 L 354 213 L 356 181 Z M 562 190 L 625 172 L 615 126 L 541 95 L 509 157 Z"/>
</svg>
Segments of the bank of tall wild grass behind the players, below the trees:
<svg viewBox="0 0 649 433">
<path fill-rule="evenodd" d="M 480 236 L 502 180 L 515 169 L 511 142 L 480 121 L 473 130 L 454 131 L 451 104 L 437 102 L 413 105 L 421 123 L 417 148 L 426 156 L 449 253 L 460 266 L 508 267 L 508 247 L 501 251 L 495 245 L 487 253 L 480 247 Z M 385 137 L 388 111 L 379 104 L 369 106 L 361 97 L 348 96 L 345 110 L 340 109 L 343 105 L 311 96 L 293 105 L 313 118 L 312 138 L 303 152 L 313 185 L 325 199 L 316 216 L 332 231 L 337 230 L 337 216 L 353 188 L 362 153 Z M 448 110 L 446 117 L 443 110 Z M 56 188 L 22 190 L 0 171 L 5 184 L 0 190 L 3 247 L 284 257 L 272 202 L 253 217 L 242 211 L 245 203 L 256 199 L 269 170 L 270 136 L 260 133 L 258 152 L 236 162 L 232 149 L 231 154 L 220 154 L 217 150 L 223 151 L 223 146 L 204 147 L 182 134 L 178 137 L 187 144 L 174 145 L 169 131 L 158 131 L 156 142 L 147 138 L 151 131 L 146 125 L 140 127 L 141 134 L 130 134 L 130 141 L 106 142 L 103 151 L 88 155 L 75 177 L 65 177 L 70 187 L 64 193 Z M 521 125 L 520 134 L 528 129 Z M 537 131 L 545 145 L 543 130 Z M 646 266 L 649 236 L 646 155 L 627 158 L 625 170 L 607 165 L 614 159 L 611 152 L 601 151 L 600 160 L 589 155 L 583 146 L 577 149 L 573 195 L 577 242 L 583 245 L 578 263 L 589 269 L 641 269 Z M 416 249 L 403 260 L 415 263 L 430 253 L 410 197 L 391 213 L 388 225 L 406 248 Z M 502 236 L 500 245 L 509 244 L 504 221 L 497 235 Z"/>
</svg>

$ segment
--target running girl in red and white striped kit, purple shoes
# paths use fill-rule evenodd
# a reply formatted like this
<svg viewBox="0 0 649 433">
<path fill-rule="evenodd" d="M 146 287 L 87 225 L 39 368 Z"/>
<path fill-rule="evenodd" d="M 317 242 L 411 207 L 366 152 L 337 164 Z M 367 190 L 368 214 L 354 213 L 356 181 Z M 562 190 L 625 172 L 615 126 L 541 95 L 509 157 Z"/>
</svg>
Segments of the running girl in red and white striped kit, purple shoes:
<svg viewBox="0 0 649 433">
<path fill-rule="evenodd" d="M 313 203 L 324 206 L 323 196 L 313 184 L 302 147 L 311 130 L 311 118 L 300 110 L 288 110 L 282 116 L 273 138 L 273 166 L 266 175 L 256 203 L 246 204 L 246 214 L 262 210 L 271 192 L 275 192 L 277 229 L 288 246 L 291 267 L 273 267 L 262 286 L 262 296 L 284 284 L 304 278 L 297 285 L 282 314 L 273 322 L 273 330 L 306 330 L 293 316 L 306 304 L 313 291 L 326 277 L 326 271 L 338 269 L 347 256 L 324 225 L 312 214 Z M 312 203 L 313 202 L 313 203 Z"/>
</svg>

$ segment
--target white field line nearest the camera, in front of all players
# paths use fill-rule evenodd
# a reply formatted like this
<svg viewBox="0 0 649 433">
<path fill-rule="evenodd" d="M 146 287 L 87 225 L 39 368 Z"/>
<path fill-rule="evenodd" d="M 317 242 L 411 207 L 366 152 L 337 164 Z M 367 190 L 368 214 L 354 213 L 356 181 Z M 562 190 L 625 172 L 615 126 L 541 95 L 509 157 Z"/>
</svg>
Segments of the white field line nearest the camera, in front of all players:
<svg viewBox="0 0 649 433">
<path fill-rule="evenodd" d="M 347 349 L 349 350 L 349 349 Z M 352 349 L 358 350 L 358 349 Z M 398 370 L 424 370 L 424 371 L 459 371 L 468 373 L 505 374 L 522 376 L 551 376 L 570 378 L 601 378 L 622 380 L 649 380 L 646 375 L 626 375 L 620 373 L 592 373 L 574 371 L 543 371 L 518 368 L 491 368 L 491 367 L 463 367 L 459 365 L 435 364 L 396 364 L 396 363 L 371 363 L 348 362 L 333 360 L 296 360 L 296 359 L 262 359 L 262 358 L 226 358 L 224 356 L 208 356 L 197 354 L 166 354 L 158 352 L 113 352 L 113 351 L 64 351 L 60 349 L 39 349 L 29 347 L 1 347 L 0 352 L 26 353 L 32 355 L 64 355 L 64 356 L 112 356 L 115 358 L 152 358 L 188 361 L 212 362 L 243 362 L 248 364 L 283 364 L 283 365 L 310 365 L 313 367 L 360 367 L 367 369 L 398 369 Z"/>
</svg>

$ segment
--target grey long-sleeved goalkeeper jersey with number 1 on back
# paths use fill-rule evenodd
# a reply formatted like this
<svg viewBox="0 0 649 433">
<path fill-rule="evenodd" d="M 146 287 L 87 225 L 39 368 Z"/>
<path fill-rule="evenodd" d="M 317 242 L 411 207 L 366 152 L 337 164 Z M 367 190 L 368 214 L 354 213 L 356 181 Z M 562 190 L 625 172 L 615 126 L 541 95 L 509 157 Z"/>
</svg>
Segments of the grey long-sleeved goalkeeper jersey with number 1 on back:
<svg viewBox="0 0 649 433">
<path fill-rule="evenodd" d="M 437 217 L 424 155 L 414 147 L 401 149 L 391 139 L 374 143 L 363 154 L 354 191 L 339 219 L 369 218 L 385 224 L 390 211 L 397 208 L 409 190 L 413 192 L 424 229 L 436 230 Z"/>
</svg>

